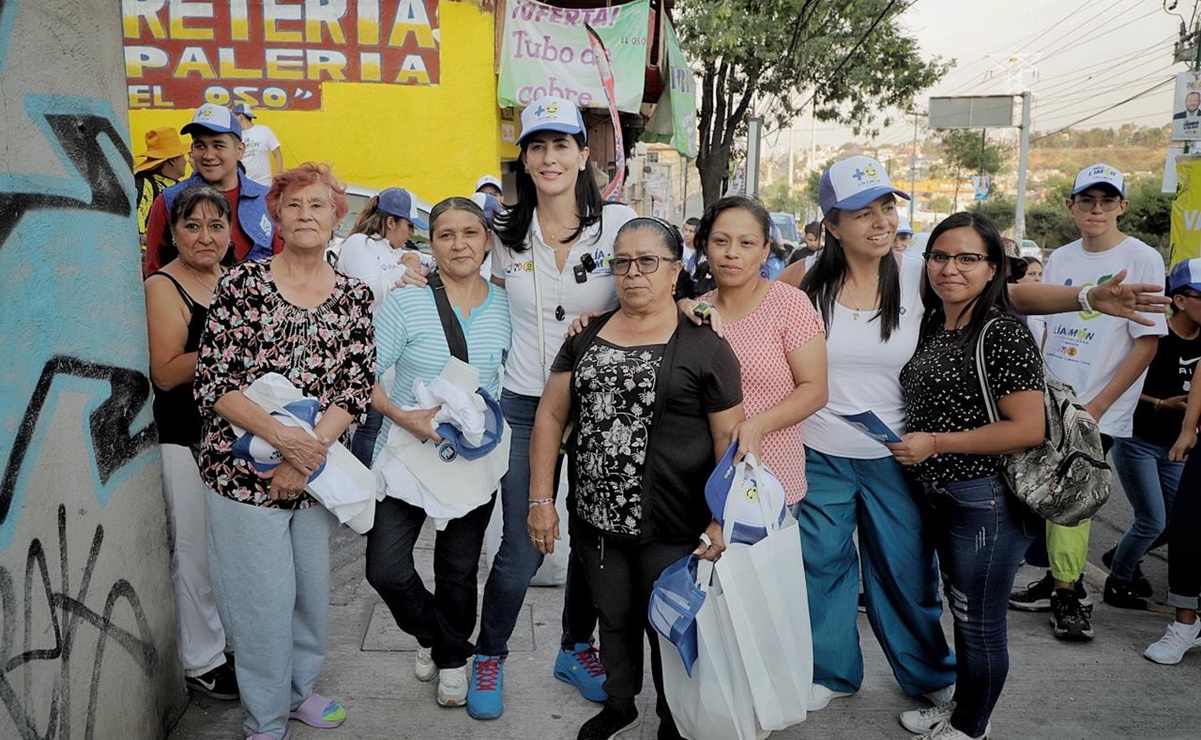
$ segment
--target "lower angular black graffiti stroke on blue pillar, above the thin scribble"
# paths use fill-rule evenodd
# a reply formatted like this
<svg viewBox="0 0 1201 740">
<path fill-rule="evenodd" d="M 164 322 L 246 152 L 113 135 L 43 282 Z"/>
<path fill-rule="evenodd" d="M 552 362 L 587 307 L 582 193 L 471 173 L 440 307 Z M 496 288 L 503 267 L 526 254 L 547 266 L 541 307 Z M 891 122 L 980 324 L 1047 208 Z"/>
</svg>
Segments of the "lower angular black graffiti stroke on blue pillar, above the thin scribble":
<svg viewBox="0 0 1201 740">
<path fill-rule="evenodd" d="M 89 418 L 92 456 L 100 471 L 101 483 L 107 484 L 114 472 L 142 454 L 159 437 L 153 422 L 136 434 L 132 431 L 133 418 L 150 396 L 150 381 L 144 374 L 74 357 L 52 357 L 42 365 L 42 375 L 37 378 L 37 386 L 34 387 L 34 394 L 25 407 L 25 416 L 17 429 L 17 438 L 8 454 L 4 478 L 0 479 L 0 525 L 8 518 L 25 454 L 37 429 L 42 407 L 49 398 L 50 386 L 58 375 L 108 381 L 110 388 L 108 399 L 96 407 Z"/>
</svg>

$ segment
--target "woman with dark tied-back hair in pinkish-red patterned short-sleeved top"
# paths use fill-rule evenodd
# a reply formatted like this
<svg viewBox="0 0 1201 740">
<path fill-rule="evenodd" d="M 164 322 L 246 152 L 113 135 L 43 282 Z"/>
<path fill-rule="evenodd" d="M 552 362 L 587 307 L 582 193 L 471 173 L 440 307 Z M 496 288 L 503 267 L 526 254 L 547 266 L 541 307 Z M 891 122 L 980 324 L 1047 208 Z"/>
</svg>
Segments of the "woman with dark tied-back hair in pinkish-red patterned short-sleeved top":
<svg viewBox="0 0 1201 740">
<path fill-rule="evenodd" d="M 805 496 L 801 422 L 826 404 L 825 329 L 805 293 L 760 276 L 770 226 L 757 201 L 730 196 L 705 211 L 697 244 L 717 281 L 704 299 L 721 314 L 742 368 L 747 420 L 735 432 L 737 456 L 763 460 L 793 506 Z"/>
</svg>

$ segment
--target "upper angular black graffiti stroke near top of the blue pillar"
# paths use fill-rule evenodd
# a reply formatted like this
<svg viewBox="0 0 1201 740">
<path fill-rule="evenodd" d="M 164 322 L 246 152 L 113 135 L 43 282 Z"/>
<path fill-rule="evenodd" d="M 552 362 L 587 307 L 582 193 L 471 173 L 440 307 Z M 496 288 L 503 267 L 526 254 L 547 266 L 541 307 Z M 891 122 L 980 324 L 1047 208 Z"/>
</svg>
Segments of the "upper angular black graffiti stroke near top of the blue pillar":
<svg viewBox="0 0 1201 740">
<path fill-rule="evenodd" d="M 130 148 L 113 121 L 88 113 L 48 113 L 46 123 L 71 157 L 79 177 L 91 187 L 91 202 L 46 192 L 0 192 L 0 249 L 22 216 L 31 210 L 95 210 L 119 216 L 132 213 L 126 193 L 126 180 L 131 175 L 116 173 L 100 147 L 100 137 L 107 137 L 126 161 L 132 160 Z"/>
</svg>

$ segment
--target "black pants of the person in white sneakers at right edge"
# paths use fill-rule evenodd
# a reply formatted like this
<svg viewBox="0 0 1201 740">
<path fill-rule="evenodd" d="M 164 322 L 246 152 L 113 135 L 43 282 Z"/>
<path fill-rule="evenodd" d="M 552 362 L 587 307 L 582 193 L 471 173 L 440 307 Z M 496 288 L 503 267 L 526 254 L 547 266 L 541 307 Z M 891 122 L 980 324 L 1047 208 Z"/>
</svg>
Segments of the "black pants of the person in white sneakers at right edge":
<svg viewBox="0 0 1201 740">
<path fill-rule="evenodd" d="M 1201 597 L 1201 449 L 1194 448 L 1181 473 L 1167 517 L 1167 603 L 1197 610 Z"/>
</svg>

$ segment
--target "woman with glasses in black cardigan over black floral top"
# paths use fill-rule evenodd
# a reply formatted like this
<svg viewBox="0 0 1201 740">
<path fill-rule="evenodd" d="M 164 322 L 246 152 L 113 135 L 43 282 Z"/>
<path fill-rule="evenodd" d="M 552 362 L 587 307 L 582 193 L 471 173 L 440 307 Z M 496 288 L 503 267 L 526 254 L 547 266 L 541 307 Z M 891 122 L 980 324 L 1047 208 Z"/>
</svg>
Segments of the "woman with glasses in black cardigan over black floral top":
<svg viewBox="0 0 1201 740">
<path fill-rule="evenodd" d="M 551 365 L 530 448 L 530 537 L 540 554 L 560 538 L 555 461 L 568 423 L 572 548 L 600 615 L 604 709 L 579 740 L 639 724 L 643 634 L 651 637 L 658 738 L 680 738 L 663 693 L 658 639 L 647 619 L 663 568 L 689 553 L 717 560 L 722 529 L 705 481 L 742 422 L 730 346 L 676 306 L 683 240 L 657 219 L 622 226 L 614 245 L 619 308 L 593 318 Z"/>
</svg>

